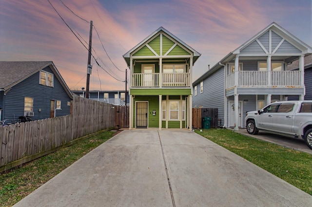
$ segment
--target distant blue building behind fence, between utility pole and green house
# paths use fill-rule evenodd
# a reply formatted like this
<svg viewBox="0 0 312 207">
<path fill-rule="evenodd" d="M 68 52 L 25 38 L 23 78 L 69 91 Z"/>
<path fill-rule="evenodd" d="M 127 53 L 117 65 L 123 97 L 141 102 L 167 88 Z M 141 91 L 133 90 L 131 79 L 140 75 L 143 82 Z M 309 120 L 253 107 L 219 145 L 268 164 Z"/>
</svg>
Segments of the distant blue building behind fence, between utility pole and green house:
<svg viewBox="0 0 312 207">
<path fill-rule="evenodd" d="M 85 97 L 86 95 L 85 91 L 72 91 L 72 93 L 80 97 Z M 126 96 L 127 103 L 125 102 Z M 129 105 L 129 91 L 127 91 L 127 95 L 125 91 L 89 91 L 89 99 L 114 105 Z"/>
</svg>

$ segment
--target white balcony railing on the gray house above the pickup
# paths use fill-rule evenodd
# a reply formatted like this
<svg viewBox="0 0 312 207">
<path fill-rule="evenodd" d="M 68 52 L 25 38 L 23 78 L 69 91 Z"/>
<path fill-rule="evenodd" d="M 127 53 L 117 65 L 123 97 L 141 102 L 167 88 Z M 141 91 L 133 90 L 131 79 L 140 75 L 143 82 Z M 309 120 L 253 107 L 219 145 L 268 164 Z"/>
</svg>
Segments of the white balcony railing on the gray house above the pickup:
<svg viewBox="0 0 312 207">
<path fill-rule="evenodd" d="M 301 85 L 300 71 L 238 71 L 238 83 L 235 83 L 234 79 L 234 73 L 227 75 L 226 88 L 233 86 L 268 87 L 270 82 L 270 86 L 274 87 Z M 269 79 L 271 81 L 268 81 Z"/>
</svg>

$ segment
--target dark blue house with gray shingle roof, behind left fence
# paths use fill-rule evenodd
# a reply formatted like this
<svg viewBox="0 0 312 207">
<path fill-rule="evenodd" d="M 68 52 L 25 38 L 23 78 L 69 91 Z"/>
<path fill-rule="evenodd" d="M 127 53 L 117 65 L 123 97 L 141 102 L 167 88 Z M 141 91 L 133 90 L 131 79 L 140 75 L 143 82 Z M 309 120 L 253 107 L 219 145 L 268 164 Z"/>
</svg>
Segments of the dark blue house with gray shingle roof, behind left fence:
<svg viewBox="0 0 312 207">
<path fill-rule="evenodd" d="M 70 114 L 73 94 L 52 61 L 0 61 L 0 119 Z"/>
</svg>

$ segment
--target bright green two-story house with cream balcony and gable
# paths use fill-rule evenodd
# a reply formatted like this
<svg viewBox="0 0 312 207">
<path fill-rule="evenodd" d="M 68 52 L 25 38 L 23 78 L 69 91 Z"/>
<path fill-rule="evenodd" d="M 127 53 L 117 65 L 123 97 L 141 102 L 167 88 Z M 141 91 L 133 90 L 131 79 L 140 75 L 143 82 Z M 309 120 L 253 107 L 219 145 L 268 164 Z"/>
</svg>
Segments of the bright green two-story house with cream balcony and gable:
<svg viewBox="0 0 312 207">
<path fill-rule="evenodd" d="M 129 129 L 192 130 L 192 72 L 199 56 L 163 27 L 123 55 L 130 68 Z"/>
</svg>

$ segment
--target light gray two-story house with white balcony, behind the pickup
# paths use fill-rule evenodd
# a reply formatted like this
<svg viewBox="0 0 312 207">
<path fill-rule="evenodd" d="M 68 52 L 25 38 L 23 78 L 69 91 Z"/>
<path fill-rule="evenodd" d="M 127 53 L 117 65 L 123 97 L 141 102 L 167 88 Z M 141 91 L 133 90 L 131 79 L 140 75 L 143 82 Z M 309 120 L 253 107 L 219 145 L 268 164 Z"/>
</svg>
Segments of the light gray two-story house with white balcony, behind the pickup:
<svg viewBox="0 0 312 207">
<path fill-rule="evenodd" d="M 246 112 L 274 101 L 304 99 L 304 56 L 312 48 L 275 22 L 223 57 L 193 83 L 194 108 L 218 108 L 227 128 L 245 128 Z M 287 65 L 298 60 L 298 70 Z"/>
</svg>

